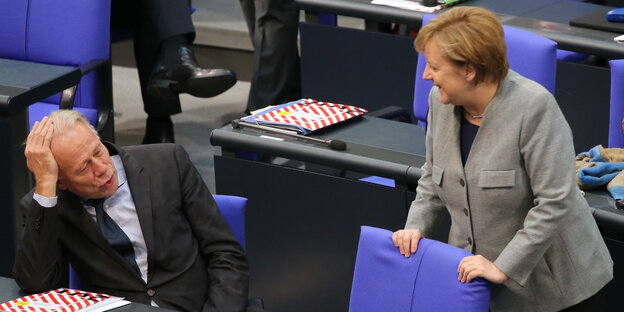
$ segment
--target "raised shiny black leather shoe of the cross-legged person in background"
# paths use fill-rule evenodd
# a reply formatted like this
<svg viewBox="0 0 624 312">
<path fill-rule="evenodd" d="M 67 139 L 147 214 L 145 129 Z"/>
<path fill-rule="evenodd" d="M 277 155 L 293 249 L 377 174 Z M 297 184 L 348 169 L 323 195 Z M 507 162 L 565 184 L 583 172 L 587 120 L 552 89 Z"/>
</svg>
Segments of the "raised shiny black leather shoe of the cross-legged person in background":
<svg viewBox="0 0 624 312">
<path fill-rule="evenodd" d="M 229 69 L 199 67 L 189 47 L 181 47 L 178 57 L 179 65 L 173 68 L 159 65 L 156 68 L 146 87 L 148 94 L 165 99 L 180 93 L 209 98 L 225 92 L 236 83 L 236 74 Z"/>
</svg>

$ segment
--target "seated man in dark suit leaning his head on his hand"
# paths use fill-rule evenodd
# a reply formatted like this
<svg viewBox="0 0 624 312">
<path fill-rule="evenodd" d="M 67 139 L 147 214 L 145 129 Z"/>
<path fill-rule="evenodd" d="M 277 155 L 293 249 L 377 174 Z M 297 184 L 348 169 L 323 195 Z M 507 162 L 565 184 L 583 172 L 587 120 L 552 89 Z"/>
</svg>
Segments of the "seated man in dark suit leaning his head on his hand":
<svg viewBox="0 0 624 312">
<path fill-rule="evenodd" d="M 245 310 L 244 252 L 181 146 L 121 148 L 60 110 L 35 123 L 25 155 L 36 186 L 14 266 L 22 289 L 57 287 L 65 259 L 89 291 L 179 311 Z"/>
</svg>

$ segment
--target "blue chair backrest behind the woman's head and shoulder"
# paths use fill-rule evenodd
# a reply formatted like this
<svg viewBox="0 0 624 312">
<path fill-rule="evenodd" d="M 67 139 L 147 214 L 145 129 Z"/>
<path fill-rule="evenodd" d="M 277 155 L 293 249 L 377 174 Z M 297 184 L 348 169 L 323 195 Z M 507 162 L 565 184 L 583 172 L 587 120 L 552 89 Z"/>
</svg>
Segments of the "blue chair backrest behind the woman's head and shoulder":
<svg viewBox="0 0 624 312">
<path fill-rule="evenodd" d="M 423 26 L 436 15 L 424 14 Z M 555 76 L 557 70 L 557 43 L 526 30 L 503 25 L 507 59 L 509 67 L 540 83 L 550 93 L 555 93 Z M 527 53 L 527 51 L 531 51 Z M 416 66 L 416 83 L 414 86 L 414 115 L 418 124 L 426 127 L 427 111 L 429 110 L 429 91 L 433 84 L 422 79 L 427 60 L 423 53 L 418 55 Z"/>
</svg>

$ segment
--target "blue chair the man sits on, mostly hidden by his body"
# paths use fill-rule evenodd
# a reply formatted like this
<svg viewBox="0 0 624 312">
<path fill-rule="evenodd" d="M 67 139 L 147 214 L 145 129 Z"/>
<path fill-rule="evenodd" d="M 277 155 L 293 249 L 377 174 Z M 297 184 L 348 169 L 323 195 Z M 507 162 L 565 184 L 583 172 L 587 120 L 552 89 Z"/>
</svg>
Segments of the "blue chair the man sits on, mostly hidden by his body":
<svg viewBox="0 0 624 312">
<path fill-rule="evenodd" d="M 247 198 L 231 195 L 213 195 L 213 197 L 225 222 L 245 249 L 245 206 L 247 205 Z M 69 287 L 73 289 L 86 288 L 84 282 L 71 266 L 69 266 Z"/>
</svg>

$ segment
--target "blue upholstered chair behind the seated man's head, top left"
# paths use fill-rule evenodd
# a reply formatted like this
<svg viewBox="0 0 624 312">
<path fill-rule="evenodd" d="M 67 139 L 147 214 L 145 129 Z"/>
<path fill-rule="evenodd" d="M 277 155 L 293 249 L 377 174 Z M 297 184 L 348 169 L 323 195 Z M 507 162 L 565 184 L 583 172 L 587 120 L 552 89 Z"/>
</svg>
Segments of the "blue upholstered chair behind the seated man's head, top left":
<svg viewBox="0 0 624 312">
<path fill-rule="evenodd" d="M 110 0 L 0 1 L 0 12 L 0 58 L 79 67 L 83 73 L 62 97 L 32 104 L 30 126 L 60 105 L 82 112 L 98 131 L 109 125 L 112 136 Z"/>
</svg>

